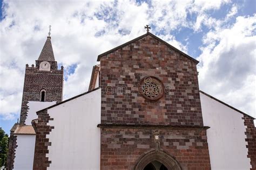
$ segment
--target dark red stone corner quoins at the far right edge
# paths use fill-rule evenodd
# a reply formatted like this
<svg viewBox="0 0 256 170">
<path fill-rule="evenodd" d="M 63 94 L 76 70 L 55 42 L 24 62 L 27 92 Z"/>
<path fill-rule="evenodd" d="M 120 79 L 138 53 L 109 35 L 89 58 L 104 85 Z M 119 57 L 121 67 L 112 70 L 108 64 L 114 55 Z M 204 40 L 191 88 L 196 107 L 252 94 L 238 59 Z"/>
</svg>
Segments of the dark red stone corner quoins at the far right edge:
<svg viewBox="0 0 256 170">
<path fill-rule="evenodd" d="M 244 124 L 246 126 L 246 139 L 248 148 L 248 155 L 247 157 L 251 159 L 251 170 L 256 170 L 256 128 L 254 125 L 254 118 L 244 115 L 242 118 L 244 119 Z"/>
</svg>

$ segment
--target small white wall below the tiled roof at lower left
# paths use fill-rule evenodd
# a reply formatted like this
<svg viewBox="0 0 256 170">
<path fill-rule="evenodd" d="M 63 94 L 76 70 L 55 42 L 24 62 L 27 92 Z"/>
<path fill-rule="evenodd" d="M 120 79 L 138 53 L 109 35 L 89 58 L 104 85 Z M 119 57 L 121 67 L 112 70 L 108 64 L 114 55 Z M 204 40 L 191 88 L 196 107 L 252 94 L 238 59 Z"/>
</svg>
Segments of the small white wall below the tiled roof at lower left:
<svg viewBox="0 0 256 170">
<path fill-rule="evenodd" d="M 36 134 L 17 134 L 14 170 L 32 170 Z"/>
</svg>

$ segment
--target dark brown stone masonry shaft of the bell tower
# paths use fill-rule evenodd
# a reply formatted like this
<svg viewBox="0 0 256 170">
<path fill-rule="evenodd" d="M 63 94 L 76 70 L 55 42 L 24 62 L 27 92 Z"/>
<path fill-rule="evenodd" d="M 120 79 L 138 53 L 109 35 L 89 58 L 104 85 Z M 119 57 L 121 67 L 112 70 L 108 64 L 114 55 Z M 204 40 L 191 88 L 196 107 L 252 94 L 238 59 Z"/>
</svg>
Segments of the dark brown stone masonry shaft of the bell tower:
<svg viewBox="0 0 256 170">
<path fill-rule="evenodd" d="M 57 69 L 56 61 L 51 63 L 50 71 L 39 70 L 42 61 L 36 60 L 36 67 L 26 66 L 23 87 L 22 108 L 20 123 L 25 124 L 28 113 L 28 101 L 40 101 L 40 92 L 46 90 L 45 102 L 62 101 L 63 93 L 63 69 Z"/>
</svg>

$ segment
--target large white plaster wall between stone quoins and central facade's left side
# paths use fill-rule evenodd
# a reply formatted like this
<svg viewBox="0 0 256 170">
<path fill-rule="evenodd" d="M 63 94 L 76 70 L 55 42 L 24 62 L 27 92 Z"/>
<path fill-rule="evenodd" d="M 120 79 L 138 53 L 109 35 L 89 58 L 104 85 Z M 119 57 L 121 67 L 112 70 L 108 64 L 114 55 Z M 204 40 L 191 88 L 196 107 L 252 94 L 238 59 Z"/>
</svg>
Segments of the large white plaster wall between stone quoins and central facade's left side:
<svg viewBox="0 0 256 170">
<path fill-rule="evenodd" d="M 48 169 L 100 169 L 100 97 L 98 89 L 48 110 Z"/>
</svg>

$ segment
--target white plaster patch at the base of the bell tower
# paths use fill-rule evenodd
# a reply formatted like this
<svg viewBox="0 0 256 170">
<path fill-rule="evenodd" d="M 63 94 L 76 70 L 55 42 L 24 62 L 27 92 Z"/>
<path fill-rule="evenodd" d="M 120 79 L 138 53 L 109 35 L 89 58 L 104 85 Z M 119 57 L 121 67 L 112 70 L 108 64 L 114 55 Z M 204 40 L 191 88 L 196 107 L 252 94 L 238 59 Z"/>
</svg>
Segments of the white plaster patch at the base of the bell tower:
<svg viewBox="0 0 256 170">
<path fill-rule="evenodd" d="M 56 104 L 56 102 L 29 101 L 28 102 L 29 110 L 28 110 L 28 115 L 26 117 L 25 124 L 31 125 L 31 121 L 33 119 L 37 119 L 37 114 L 36 114 L 37 111 L 47 108 L 53 104 Z"/>
</svg>

